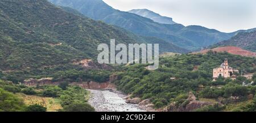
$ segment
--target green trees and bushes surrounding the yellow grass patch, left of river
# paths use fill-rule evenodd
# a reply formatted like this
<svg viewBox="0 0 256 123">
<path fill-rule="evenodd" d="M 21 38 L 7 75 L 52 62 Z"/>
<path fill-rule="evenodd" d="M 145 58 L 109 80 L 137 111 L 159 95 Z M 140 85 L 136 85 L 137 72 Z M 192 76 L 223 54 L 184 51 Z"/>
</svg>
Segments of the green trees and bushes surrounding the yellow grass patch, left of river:
<svg viewBox="0 0 256 123">
<path fill-rule="evenodd" d="M 15 93 L 60 99 L 61 112 L 93 112 L 95 109 L 87 103 L 88 91 L 78 86 L 69 86 L 67 82 L 59 86 L 26 87 L 0 80 L 0 111 L 46 112 L 47 108 L 39 104 L 26 105 Z"/>
</svg>

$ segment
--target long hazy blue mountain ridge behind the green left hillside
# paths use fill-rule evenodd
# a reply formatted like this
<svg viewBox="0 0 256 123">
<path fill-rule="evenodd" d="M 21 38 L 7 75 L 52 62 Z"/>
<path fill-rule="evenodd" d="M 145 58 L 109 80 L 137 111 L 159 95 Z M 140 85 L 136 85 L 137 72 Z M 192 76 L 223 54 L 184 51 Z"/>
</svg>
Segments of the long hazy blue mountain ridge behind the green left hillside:
<svg viewBox="0 0 256 123">
<path fill-rule="evenodd" d="M 57 6 L 71 7 L 89 18 L 102 20 L 105 23 L 125 28 L 137 35 L 156 37 L 189 50 L 198 50 L 204 46 L 228 40 L 237 34 L 237 32 L 224 33 L 217 31 L 216 29 L 209 29 L 202 26 L 185 27 L 181 24 L 159 23 L 158 20 L 152 20 L 153 15 L 158 16 L 158 14 L 155 14 L 154 12 L 150 12 L 152 14 L 151 16 L 151 14 L 143 15 L 142 13 L 144 12 L 133 14 L 131 11 L 119 11 L 113 9 L 102 0 L 48 1 Z"/>
</svg>

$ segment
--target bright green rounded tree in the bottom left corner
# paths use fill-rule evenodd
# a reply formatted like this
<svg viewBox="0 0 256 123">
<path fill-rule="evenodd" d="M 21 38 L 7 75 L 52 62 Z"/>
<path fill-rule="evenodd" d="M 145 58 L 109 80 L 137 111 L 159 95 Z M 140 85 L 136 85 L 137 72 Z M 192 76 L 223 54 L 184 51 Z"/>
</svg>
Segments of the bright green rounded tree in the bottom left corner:
<svg viewBox="0 0 256 123">
<path fill-rule="evenodd" d="M 0 88 L 0 112 L 23 111 L 24 107 L 22 99 Z"/>
</svg>

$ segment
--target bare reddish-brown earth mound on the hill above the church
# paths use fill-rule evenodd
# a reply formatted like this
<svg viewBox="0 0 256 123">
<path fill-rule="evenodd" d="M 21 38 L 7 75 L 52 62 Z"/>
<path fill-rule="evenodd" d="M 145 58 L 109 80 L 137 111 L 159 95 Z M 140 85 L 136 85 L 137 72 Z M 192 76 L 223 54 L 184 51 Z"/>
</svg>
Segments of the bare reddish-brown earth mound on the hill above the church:
<svg viewBox="0 0 256 123">
<path fill-rule="evenodd" d="M 213 48 L 213 49 L 204 49 L 199 52 L 193 52 L 192 54 L 197 54 L 197 53 L 202 53 L 205 54 L 209 50 L 212 50 L 213 52 L 228 52 L 230 54 L 237 54 L 240 56 L 246 56 L 246 57 L 256 57 L 255 52 L 250 52 L 248 50 L 241 49 L 237 46 L 223 46 L 223 47 L 218 47 L 218 48 Z"/>
</svg>

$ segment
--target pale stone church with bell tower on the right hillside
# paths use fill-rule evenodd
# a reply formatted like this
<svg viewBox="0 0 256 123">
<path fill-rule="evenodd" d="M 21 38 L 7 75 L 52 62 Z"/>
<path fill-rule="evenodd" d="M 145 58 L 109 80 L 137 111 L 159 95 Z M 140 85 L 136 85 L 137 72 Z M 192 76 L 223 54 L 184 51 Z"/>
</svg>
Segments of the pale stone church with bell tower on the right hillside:
<svg viewBox="0 0 256 123">
<path fill-rule="evenodd" d="M 230 67 L 228 64 L 228 59 L 225 59 L 224 63 L 221 63 L 220 67 L 213 69 L 213 79 L 218 77 L 235 79 L 236 75 L 234 75 L 234 72 L 238 73 L 239 71 L 233 69 L 233 67 Z"/>
</svg>

